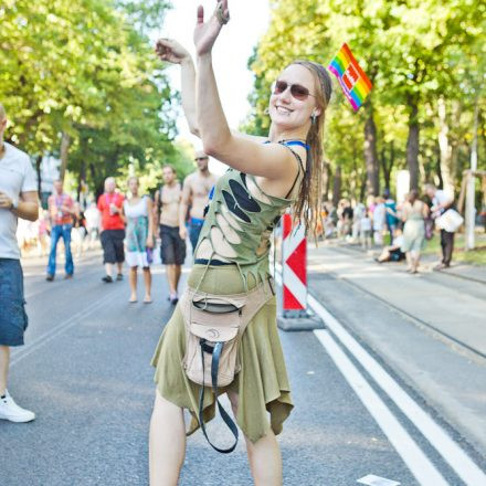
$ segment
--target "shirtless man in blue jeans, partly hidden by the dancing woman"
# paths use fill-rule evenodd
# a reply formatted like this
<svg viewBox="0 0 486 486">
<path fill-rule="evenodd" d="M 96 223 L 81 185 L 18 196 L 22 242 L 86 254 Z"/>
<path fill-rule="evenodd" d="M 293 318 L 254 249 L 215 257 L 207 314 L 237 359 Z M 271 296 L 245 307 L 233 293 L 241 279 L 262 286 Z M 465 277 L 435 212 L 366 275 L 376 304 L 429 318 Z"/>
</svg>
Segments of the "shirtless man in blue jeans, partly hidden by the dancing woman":
<svg viewBox="0 0 486 486">
<path fill-rule="evenodd" d="M 191 240 L 192 254 L 198 244 L 199 233 L 204 222 L 204 208 L 208 204 L 208 196 L 216 182 L 216 178 L 208 170 L 208 156 L 203 151 L 196 152 L 198 170 L 189 175 L 182 189 L 182 202 L 179 210 L 179 234 L 186 241 L 186 215 L 190 207 L 189 239 Z"/>
</svg>

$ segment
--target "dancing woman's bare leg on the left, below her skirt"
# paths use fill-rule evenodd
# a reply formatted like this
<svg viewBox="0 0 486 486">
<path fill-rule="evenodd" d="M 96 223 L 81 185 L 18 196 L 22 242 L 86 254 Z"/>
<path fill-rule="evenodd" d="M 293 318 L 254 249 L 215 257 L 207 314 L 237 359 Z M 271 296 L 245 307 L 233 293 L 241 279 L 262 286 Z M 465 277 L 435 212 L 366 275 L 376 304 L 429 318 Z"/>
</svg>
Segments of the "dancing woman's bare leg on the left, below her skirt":
<svg viewBox="0 0 486 486">
<path fill-rule="evenodd" d="M 184 455 L 183 411 L 157 391 L 150 420 L 150 486 L 177 486 Z"/>
</svg>

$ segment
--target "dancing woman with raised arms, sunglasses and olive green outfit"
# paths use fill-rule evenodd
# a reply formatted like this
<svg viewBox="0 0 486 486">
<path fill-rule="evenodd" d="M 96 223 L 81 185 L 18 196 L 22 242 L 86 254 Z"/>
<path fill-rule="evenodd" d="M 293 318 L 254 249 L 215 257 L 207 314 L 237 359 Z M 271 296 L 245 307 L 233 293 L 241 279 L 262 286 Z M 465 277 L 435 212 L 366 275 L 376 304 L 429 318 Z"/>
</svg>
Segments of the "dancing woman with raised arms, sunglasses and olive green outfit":
<svg viewBox="0 0 486 486">
<path fill-rule="evenodd" d="M 181 65 L 182 106 L 204 152 L 230 170 L 221 177 L 210 203 L 189 276 L 189 288 L 216 295 L 251 293 L 270 278 L 270 236 L 281 214 L 292 207 L 310 224 L 320 204 L 324 114 L 331 94 L 327 72 L 318 64 L 296 61 L 275 82 L 268 103 L 268 137 L 230 130 L 214 78 L 211 51 L 229 20 L 228 1 L 219 1 L 204 21 L 198 9 L 194 30 L 197 70 L 178 43 L 160 40 L 161 60 Z M 194 96 L 198 93 L 199 96 Z M 177 485 L 186 452 L 183 409 L 198 420 L 201 385 L 183 367 L 183 306 L 167 324 L 152 364 L 157 368 L 156 401 L 150 424 L 150 484 Z M 293 408 L 276 326 L 275 297 L 249 323 L 239 345 L 240 372 L 226 393 L 246 441 L 255 485 L 282 485 L 282 459 L 275 435 Z M 214 415 L 215 397 L 203 389 L 205 421 Z M 270 421 L 267 413 L 270 413 Z M 224 480 L 232 484 L 231 478 Z"/>
</svg>

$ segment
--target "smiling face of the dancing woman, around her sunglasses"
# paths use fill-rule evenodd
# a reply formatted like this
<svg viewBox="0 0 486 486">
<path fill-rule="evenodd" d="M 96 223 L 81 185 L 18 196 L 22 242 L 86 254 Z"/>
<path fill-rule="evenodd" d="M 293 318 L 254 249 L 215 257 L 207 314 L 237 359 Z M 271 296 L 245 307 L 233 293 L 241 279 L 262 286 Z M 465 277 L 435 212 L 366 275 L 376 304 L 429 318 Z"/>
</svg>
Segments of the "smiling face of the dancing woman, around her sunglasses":
<svg viewBox="0 0 486 486">
<path fill-rule="evenodd" d="M 273 92 L 270 97 L 268 112 L 274 124 L 285 129 L 293 129 L 310 123 L 310 116 L 314 112 L 317 116 L 320 115 L 320 109 L 316 107 L 314 76 L 307 67 L 292 64 L 281 73 L 276 82 L 285 82 L 287 87 L 282 93 Z M 297 97 L 292 94 L 290 86 L 293 85 Z M 282 86 L 281 83 L 281 91 Z M 303 92 L 302 88 L 309 93 L 305 99 L 299 99 L 303 97 L 299 95 Z"/>
</svg>

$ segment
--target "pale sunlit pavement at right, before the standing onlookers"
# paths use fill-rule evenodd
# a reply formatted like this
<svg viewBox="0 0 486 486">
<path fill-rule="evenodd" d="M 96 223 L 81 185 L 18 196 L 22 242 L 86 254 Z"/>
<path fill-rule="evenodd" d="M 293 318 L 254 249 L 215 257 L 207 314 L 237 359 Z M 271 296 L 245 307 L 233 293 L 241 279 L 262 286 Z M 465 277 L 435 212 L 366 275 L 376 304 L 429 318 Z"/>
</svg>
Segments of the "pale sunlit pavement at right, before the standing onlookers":
<svg viewBox="0 0 486 486">
<path fill-rule="evenodd" d="M 329 258 L 329 255 L 332 255 Z M 439 274 L 433 263 L 421 275 L 409 275 L 403 263 L 377 264 L 370 254 L 348 246 L 326 245 L 310 251 L 310 270 L 338 273 L 364 292 L 426 323 L 486 358 L 486 270 L 458 265 Z M 474 281 L 454 278 L 450 273 Z M 485 279 L 486 284 L 486 279 Z M 482 324 L 483 323 L 483 324 Z"/>
</svg>

